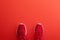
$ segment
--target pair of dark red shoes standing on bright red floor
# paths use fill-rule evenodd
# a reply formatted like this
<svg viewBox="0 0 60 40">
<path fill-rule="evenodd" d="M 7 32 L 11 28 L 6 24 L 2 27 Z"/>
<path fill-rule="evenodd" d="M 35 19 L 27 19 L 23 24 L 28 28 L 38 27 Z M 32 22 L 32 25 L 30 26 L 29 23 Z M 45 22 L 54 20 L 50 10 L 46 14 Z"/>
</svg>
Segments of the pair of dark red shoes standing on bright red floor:
<svg viewBox="0 0 60 40">
<path fill-rule="evenodd" d="M 34 29 L 34 40 L 41 40 L 43 35 L 43 28 L 41 23 L 37 23 Z M 17 39 L 27 40 L 27 29 L 25 24 L 20 23 L 17 28 Z"/>
</svg>

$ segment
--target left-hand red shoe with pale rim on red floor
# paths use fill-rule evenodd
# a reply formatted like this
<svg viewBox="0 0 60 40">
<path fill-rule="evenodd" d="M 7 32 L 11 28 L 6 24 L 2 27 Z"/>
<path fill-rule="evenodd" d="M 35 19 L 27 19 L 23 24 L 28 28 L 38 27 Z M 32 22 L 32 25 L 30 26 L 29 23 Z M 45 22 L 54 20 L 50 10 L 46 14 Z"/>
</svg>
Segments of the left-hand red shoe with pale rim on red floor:
<svg viewBox="0 0 60 40">
<path fill-rule="evenodd" d="M 17 28 L 17 39 L 18 40 L 27 40 L 27 30 L 26 26 L 23 23 L 20 23 Z"/>
</svg>

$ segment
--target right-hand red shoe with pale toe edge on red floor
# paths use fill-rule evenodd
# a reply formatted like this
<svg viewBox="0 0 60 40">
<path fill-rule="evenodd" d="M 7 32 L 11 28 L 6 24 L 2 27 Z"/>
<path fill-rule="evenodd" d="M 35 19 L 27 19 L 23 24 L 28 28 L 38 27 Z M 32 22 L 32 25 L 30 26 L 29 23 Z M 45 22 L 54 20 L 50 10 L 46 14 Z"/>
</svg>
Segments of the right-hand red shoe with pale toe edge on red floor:
<svg viewBox="0 0 60 40">
<path fill-rule="evenodd" d="M 37 23 L 35 27 L 34 40 L 42 40 L 43 28 L 41 23 Z"/>
</svg>

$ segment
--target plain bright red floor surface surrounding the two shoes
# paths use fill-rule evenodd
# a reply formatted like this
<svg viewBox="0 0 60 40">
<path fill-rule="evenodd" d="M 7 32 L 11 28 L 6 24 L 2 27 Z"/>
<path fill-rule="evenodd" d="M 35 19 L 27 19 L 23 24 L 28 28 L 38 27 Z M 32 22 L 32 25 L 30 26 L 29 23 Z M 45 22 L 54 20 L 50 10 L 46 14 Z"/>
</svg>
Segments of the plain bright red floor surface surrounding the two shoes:
<svg viewBox="0 0 60 40">
<path fill-rule="evenodd" d="M 27 26 L 28 40 L 33 40 L 37 22 L 44 26 L 43 40 L 60 40 L 60 0 L 1 0 L 0 40 L 16 40 L 16 27 Z"/>
</svg>

